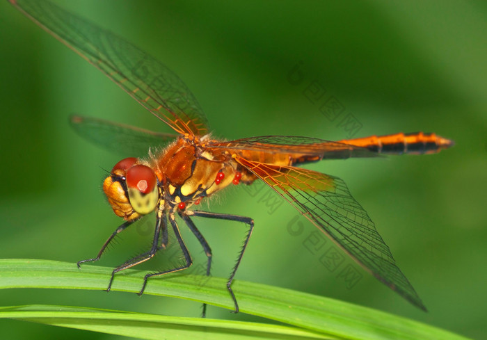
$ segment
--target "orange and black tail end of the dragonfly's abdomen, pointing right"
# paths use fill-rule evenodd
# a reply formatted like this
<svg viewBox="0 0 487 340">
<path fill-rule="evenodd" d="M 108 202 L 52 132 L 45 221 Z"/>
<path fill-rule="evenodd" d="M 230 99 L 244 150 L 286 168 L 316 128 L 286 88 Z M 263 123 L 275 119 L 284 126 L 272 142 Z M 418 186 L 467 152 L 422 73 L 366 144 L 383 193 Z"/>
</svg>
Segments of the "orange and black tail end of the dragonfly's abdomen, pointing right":
<svg viewBox="0 0 487 340">
<path fill-rule="evenodd" d="M 344 139 L 339 143 L 365 147 L 378 154 L 434 154 L 454 145 L 453 140 L 423 132 Z"/>
</svg>

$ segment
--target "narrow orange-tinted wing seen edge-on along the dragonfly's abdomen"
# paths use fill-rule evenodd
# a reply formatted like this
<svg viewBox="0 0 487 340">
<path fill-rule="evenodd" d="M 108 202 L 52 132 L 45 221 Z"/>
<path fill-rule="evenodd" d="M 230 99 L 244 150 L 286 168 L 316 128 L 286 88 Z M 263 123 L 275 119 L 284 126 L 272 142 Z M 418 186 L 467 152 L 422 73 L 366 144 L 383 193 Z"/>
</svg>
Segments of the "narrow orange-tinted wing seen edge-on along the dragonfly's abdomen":
<svg viewBox="0 0 487 340">
<path fill-rule="evenodd" d="M 365 147 L 302 136 L 258 136 L 228 142 L 215 141 L 209 143 L 209 146 L 269 153 L 307 154 L 320 156 L 321 159 L 380 156 Z"/>
</svg>

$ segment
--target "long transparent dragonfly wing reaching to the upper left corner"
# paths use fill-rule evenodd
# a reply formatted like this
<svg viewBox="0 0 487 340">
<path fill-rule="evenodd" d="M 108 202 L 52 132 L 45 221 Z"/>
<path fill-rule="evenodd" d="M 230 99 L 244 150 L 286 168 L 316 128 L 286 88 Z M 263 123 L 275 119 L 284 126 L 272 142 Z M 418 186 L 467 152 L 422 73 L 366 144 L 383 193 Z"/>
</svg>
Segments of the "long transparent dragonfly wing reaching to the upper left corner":
<svg viewBox="0 0 487 340">
<path fill-rule="evenodd" d="M 171 70 L 130 42 L 44 0 L 10 0 L 48 33 L 118 84 L 177 133 L 204 135 L 207 119 Z"/>
</svg>

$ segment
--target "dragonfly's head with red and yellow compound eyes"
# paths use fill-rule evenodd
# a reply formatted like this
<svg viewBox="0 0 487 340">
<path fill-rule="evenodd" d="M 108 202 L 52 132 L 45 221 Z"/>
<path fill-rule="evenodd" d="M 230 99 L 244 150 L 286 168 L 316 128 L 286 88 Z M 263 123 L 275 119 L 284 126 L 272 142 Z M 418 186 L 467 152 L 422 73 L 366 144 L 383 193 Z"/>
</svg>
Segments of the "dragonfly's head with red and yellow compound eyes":
<svg viewBox="0 0 487 340">
<path fill-rule="evenodd" d="M 103 191 L 115 214 L 125 220 L 134 220 L 154 211 L 159 202 L 154 171 L 135 157 L 115 164 L 103 182 Z"/>
</svg>

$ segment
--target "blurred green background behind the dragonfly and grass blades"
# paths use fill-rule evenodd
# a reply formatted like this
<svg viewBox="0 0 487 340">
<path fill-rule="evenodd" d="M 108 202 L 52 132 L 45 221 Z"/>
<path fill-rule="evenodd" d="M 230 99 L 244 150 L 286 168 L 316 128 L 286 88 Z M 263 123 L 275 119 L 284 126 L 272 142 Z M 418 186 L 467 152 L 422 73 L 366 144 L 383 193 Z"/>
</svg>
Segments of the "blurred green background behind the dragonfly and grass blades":
<svg viewBox="0 0 487 340">
<path fill-rule="evenodd" d="M 58 3 L 135 42 L 179 74 L 204 108 L 214 136 L 340 140 L 353 132 L 359 137 L 434 131 L 455 140 L 454 148 L 431 156 L 310 167 L 346 181 L 429 308 L 427 314 L 348 257 L 335 270 L 321 264 L 321 255 L 337 248 L 328 241 L 310 252 L 306 239 L 316 229 L 286 204 L 275 205 L 277 195 L 262 185 L 255 191 L 231 188 L 212 200 L 209 209 L 255 219 L 237 280 L 346 300 L 474 339 L 485 336 L 484 1 Z M 7 1 L 0 3 L 0 55 L 0 257 L 73 263 L 92 257 L 121 222 L 100 190 L 103 169 L 130 155 L 110 154 L 82 140 L 67 117 L 79 113 L 168 129 Z M 296 65 L 301 83 L 289 81 Z M 305 96 L 311 83 L 326 90 L 314 103 Z M 332 97 L 344 112 L 330 121 L 320 107 Z M 353 131 L 340 124 L 350 114 L 358 124 Z M 289 233 L 296 226 L 300 232 Z M 145 227 L 127 231 L 100 264 L 115 266 L 145 249 L 151 225 Z M 198 227 L 212 246 L 214 275 L 227 277 L 244 227 L 209 220 L 198 220 Z M 187 230 L 184 236 L 195 261 L 205 261 Z M 353 287 L 340 277 L 346 266 L 361 276 Z M 200 314 L 195 302 L 120 292 L 18 289 L 0 291 L 0 300 L 2 306 L 45 303 Z M 211 306 L 208 316 L 259 321 Z M 118 338 L 21 321 L 2 320 L 0 328 L 6 339 Z"/>
</svg>

